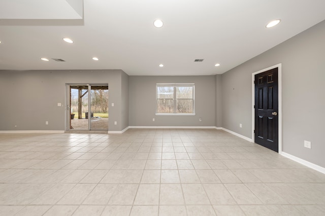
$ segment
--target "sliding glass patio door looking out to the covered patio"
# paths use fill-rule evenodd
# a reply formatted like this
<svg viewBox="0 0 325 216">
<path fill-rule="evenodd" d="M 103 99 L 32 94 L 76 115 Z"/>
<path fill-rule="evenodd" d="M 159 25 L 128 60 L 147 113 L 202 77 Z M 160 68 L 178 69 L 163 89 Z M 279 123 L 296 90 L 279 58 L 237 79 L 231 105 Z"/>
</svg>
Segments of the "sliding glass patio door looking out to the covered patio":
<svg viewBox="0 0 325 216">
<path fill-rule="evenodd" d="M 67 84 L 67 131 L 108 131 L 108 84 Z"/>
</svg>

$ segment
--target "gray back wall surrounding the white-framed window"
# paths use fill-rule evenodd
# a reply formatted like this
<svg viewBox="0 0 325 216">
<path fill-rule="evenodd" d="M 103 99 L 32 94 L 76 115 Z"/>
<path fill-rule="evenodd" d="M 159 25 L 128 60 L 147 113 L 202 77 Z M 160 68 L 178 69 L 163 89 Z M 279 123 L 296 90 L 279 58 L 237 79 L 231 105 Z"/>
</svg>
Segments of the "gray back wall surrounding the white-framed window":
<svg viewBox="0 0 325 216">
<path fill-rule="evenodd" d="M 194 83 L 196 115 L 155 115 L 156 83 Z M 215 98 L 215 76 L 129 76 L 129 125 L 215 126 Z"/>
</svg>

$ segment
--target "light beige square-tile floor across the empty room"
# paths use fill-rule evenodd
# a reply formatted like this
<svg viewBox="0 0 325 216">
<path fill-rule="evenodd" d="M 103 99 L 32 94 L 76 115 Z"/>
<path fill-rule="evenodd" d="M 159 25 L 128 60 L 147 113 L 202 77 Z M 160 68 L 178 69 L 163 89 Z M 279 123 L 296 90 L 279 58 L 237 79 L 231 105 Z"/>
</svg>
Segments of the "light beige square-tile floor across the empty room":
<svg viewBox="0 0 325 216">
<path fill-rule="evenodd" d="M 0 134 L 0 215 L 325 215 L 325 175 L 216 129 Z"/>
</svg>

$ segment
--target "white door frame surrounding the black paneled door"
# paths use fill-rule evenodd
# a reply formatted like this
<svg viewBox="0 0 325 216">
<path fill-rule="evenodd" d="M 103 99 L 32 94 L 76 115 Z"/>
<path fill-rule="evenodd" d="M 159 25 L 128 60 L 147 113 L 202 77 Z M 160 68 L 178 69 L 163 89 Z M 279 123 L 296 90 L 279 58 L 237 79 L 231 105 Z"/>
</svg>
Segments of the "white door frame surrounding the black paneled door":
<svg viewBox="0 0 325 216">
<path fill-rule="evenodd" d="M 255 84 L 254 79 L 255 75 L 258 73 L 262 73 L 273 68 L 278 68 L 278 146 L 279 146 L 279 154 L 282 153 L 282 63 L 273 65 L 271 67 L 265 68 L 263 70 L 256 71 L 252 73 L 252 142 L 255 142 Z"/>
</svg>

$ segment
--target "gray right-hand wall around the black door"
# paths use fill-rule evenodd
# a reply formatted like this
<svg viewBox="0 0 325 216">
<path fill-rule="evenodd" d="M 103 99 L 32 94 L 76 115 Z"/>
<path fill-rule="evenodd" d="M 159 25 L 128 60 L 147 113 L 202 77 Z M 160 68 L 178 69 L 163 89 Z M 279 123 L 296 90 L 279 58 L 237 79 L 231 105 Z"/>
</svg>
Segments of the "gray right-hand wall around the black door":
<svg viewBox="0 0 325 216">
<path fill-rule="evenodd" d="M 283 151 L 325 167 L 324 38 L 325 21 L 222 74 L 222 126 L 251 138 L 251 74 L 282 63 Z"/>
</svg>

